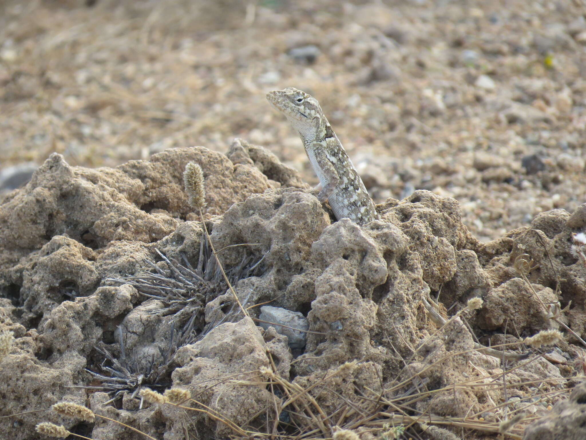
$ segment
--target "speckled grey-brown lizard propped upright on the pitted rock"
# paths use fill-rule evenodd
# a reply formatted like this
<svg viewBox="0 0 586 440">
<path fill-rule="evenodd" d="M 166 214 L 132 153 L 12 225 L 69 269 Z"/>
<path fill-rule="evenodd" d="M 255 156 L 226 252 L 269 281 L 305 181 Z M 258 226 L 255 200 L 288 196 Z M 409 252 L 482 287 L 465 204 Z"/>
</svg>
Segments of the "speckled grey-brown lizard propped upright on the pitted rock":
<svg viewBox="0 0 586 440">
<path fill-rule="evenodd" d="M 318 191 L 319 202 L 329 202 L 336 220 L 349 218 L 363 225 L 377 219 L 374 202 L 318 100 L 294 87 L 268 92 L 267 100 L 299 133 L 305 153 L 319 178 L 314 189 Z"/>
</svg>

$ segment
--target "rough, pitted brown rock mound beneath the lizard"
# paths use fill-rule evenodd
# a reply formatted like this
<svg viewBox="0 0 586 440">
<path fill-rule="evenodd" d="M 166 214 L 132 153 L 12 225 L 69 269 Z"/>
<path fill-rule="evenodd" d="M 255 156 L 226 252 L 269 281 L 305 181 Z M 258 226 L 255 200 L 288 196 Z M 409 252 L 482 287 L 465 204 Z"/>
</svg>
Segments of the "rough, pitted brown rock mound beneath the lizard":
<svg viewBox="0 0 586 440">
<path fill-rule="evenodd" d="M 204 224 L 180 191 L 189 160 L 204 170 L 203 221 L 250 317 L 222 284 Z M 516 343 L 560 322 L 585 333 L 586 268 L 572 248 L 572 233 L 586 226 L 581 211 L 544 212 L 531 228 L 481 243 L 462 224 L 458 202 L 430 191 L 377 209 L 380 220 L 363 226 L 333 221 L 295 171 L 241 140 L 227 155 L 184 148 L 115 169 L 70 167 L 53 155 L 0 205 L 0 330 L 15 337 L 0 358 L 0 415 L 88 397 L 97 414 L 155 438 L 182 438 L 185 429 L 233 434 L 205 412 L 141 406 L 141 387 L 187 389 L 192 407 L 254 429 L 275 417 L 286 392 L 301 389 L 309 391 L 298 398 L 331 414 L 424 387 L 435 392 L 414 411 L 498 421 L 495 406 L 515 388 L 525 411 L 543 415 L 523 400 L 532 391 L 516 384 L 563 392 L 564 378 L 580 368 L 577 348 L 517 365 L 503 379 L 507 394 L 455 385 L 503 377 L 501 358 L 473 351 L 475 337 Z M 28 215 L 17 221 L 15 212 Z M 478 296 L 482 309 L 465 309 Z M 430 319 L 434 299 L 444 326 Z M 304 348 L 291 353 L 287 337 L 257 326 L 258 304 L 267 303 L 306 317 Z M 21 373 L 18 388 L 12 370 Z M 90 384 L 102 388 L 89 396 L 66 388 Z M 303 424 L 299 408 L 276 416 Z M 46 419 L 27 414 L 14 431 L 3 418 L 0 428 L 33 439 Z M 96 438 L 125 435 L 103 419 L 84 429 Z"/>
</svg>

